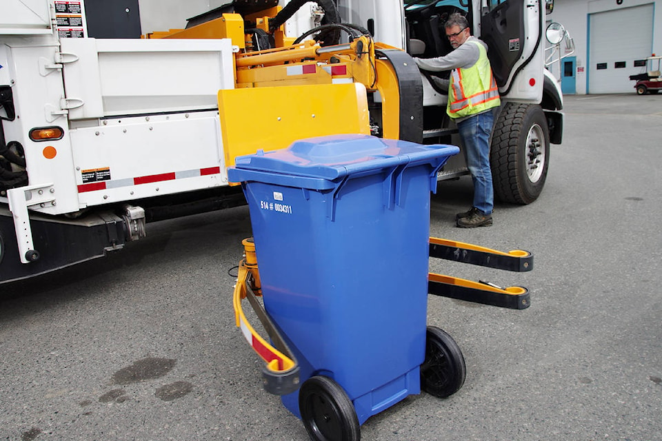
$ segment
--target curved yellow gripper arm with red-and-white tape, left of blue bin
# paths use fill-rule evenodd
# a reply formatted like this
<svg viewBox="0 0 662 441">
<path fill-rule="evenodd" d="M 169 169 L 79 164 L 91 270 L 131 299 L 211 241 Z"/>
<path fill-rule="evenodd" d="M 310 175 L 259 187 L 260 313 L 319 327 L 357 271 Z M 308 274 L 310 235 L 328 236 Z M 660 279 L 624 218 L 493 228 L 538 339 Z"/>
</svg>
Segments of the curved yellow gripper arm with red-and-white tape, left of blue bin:
<svg viewBox="0 0 662 441">
<path fill-rule="evenodd" d="M 237 285 L 234 285 L 234 320 L 250 347 L 267 363 L 262 369 L 264 389 L 276 395 L 286 395 L 299 389 L 299 364 L 253 292 L 253 289 L 259 291 L 257 260 L 251 262 L 254 245 L 250 252 L 251 245 L 247 246 L 247 243 L 252 244 L 252 239 L 245 239 L 243 243 L 247 258 L 239 263 Z M 244 298 L 248 298 L 264 329 L 279 349 L 270 345 L 250 325 L 241 307 Z"/>
</svg>

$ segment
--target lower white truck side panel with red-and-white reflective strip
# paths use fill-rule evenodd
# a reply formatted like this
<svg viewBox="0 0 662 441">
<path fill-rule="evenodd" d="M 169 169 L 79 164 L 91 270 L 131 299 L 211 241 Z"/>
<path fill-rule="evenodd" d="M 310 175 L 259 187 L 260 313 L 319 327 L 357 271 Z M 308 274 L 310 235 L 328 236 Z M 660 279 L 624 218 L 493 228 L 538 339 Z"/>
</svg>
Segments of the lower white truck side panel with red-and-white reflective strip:
<svg viewBox="0 0 662 441">
<path fill-rule="evenodd" d="M 81 208 L 228 183 L 215 110 L 105 119 L 70 134 Z"/>
</svg>

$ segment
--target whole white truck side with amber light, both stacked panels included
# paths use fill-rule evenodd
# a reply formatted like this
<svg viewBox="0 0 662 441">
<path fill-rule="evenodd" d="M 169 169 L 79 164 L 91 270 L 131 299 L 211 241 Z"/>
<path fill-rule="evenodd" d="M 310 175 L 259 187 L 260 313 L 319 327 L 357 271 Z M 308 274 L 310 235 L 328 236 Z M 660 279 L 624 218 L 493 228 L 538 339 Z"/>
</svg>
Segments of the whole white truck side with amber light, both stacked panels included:
<svg viewBox="0 0 662 441">
<path fill-rule="evenodd" d="M 234 88 L 229 39 L 61 39 L 60 52 L 54 36 L 31 38 L 0 52 L 20 115 L 6 137 L 26 148 L 30 185 L 55 196 L 30 209 L 65 214 L 227 185 L 217 93 Z M 27 136 L 50 126 L 64 136 Z M 47 146 L 54 157 L 41 154 Z"/>
</svg>

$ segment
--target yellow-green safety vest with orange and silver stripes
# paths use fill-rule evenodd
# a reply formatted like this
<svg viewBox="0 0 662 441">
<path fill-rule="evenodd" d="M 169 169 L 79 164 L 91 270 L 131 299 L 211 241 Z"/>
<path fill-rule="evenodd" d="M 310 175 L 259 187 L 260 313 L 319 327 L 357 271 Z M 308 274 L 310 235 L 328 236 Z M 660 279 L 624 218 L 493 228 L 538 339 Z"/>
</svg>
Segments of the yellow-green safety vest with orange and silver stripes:
<svg viewBox="0 0 662 441">
<path fill-rule="evenodd" d="M 488 52 L 479 41 L 468 41 L 478 45 L 480 56 L 470 68 L 453 69 L 448 88 L 448 107 L 451 118 L 462 118 L 485 112 L 501 104 L 499 88 L 490 68 Z"/>
</svg>

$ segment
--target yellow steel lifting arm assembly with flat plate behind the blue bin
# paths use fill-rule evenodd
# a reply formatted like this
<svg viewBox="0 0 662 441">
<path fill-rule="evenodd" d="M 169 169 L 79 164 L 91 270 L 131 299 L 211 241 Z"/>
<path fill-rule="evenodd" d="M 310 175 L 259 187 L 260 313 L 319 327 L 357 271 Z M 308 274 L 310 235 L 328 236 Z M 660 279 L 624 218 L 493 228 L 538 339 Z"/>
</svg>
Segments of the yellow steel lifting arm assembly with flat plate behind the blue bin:
<svg viewBox="0 0 662 441">
<path fill-rule="evenodd" d="M 270 8 L 245 18 L 268 32 L 269 20 L 280 10 Z M 383 136 L 399 139 L 397 74 L 388 61 L 375 57 L 376 44 L 390 47 L 368 36 L 327 47 L 313 41 L 290 45 L 292 39 L 285 38 L 281 26 L 274 32 L 278 48 L 251 52 L 243 17 L 223 14 L 190 29 L 152 32 L 146 38 L 229 38 L 240 48 L 234 54 L 236 89 L 219 91 L 226 166 L 233 165 L 237 155 L 280 149 L 304 137 L 370 134 L 368 92 L 381 96 Z M 293 74 L 299 66 L 307 73 Z M 337 74 L 341 66 L 344 74 Z M 253 91 L 241 92 L 249 89 Z"/>
</svg>

